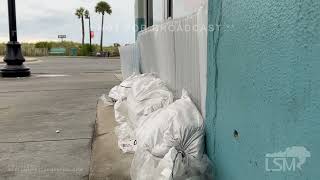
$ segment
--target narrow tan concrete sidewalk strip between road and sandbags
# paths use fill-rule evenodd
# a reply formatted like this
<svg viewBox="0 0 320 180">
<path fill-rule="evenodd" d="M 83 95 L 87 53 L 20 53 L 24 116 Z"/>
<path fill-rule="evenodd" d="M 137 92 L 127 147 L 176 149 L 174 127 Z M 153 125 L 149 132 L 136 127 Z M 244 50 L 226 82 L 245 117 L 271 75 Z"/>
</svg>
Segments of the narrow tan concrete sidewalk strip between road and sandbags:
<svg viewBox="0 0 320 180">
<path fill-rule="evenodd" d="M 123 154 L 114 132 L 116 126 L 113 105 L 101 100 L 92 145 L 90 180 L 130 180 L 133 154 Z"/>
</svg>

